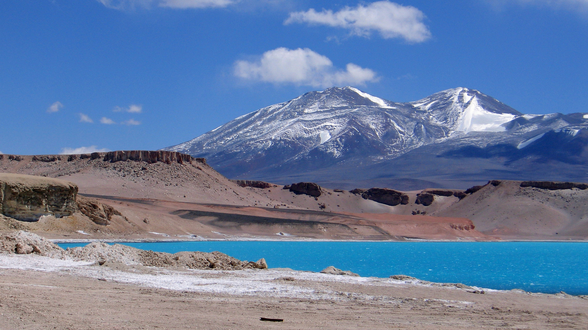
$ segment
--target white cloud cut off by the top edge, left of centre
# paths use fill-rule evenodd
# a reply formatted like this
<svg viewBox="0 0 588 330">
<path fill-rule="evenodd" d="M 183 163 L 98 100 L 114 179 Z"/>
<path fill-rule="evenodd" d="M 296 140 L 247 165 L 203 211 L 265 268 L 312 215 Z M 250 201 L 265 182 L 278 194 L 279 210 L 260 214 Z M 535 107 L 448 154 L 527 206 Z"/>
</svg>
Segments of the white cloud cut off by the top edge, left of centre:
<svg viewBox="0 0 588 330">
<path fill-rule="evenodd" d="M 160 7 L 188 9 L 188 8 L 222 8 L 235 4 L 235 0 L 98 0 L 108 8 L 128 10 L 136 8 Z"/>
</svg>

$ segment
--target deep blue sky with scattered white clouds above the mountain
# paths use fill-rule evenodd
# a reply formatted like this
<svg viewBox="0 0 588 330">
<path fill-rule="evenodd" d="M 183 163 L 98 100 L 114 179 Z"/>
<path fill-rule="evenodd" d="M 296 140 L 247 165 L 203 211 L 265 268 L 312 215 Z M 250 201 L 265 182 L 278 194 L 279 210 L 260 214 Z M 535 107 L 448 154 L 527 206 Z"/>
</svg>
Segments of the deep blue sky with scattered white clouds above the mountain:
<svg viewBox="0 0 588 330">
<path fill-rule="evenodd" d="M 588 0 L 0 1 L 0 151 L 159 149 L 346 85 L 588 112 L 587 28 Z"/>
</svg>

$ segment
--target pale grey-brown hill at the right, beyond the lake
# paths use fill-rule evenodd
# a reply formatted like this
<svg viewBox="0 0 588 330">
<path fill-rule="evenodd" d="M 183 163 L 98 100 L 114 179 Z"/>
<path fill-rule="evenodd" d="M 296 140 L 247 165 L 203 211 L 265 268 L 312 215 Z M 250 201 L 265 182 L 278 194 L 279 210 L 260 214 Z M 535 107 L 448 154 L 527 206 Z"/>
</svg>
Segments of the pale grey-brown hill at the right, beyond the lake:
<svg viewBox="0 0 588 330">
<path fill-rule="evenodd" d="M 476 229 L 503 239 L 588 239 L 586 188 L 584 183 L 494 180 L 432 215 L 467 217 Z"/>
</svg>

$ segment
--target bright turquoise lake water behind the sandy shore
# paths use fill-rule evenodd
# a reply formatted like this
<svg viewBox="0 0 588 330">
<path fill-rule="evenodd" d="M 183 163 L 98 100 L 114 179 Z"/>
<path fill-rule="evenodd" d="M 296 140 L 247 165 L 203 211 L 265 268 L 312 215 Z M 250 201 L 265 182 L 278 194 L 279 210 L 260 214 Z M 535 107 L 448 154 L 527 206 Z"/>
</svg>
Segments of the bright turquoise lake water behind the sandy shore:
<svg viewBox="0 0 588 330">
<path fill-rule="evenodd" d="M 87 243 L 59 244 L 64 247 Z M 362 276 L 410 275 L 433 282 L 531 292 L 588 294 L 588 243 L 181 241 L 124 243 L 168 253 L 220 251 L 268 266 L 320 271 L 328 266 Z"/>
</svg>

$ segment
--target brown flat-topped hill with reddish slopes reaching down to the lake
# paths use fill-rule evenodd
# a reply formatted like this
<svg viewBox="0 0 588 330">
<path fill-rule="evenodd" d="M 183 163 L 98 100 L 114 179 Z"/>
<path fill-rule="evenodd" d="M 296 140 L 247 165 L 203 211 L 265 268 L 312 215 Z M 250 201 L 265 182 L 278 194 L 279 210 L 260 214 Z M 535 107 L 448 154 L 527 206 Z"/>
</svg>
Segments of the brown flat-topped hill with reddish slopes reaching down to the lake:
<svg viewBox="0 0 588 330">
<path fill-rule="evenodd" d="M 54 238 L 489 239 L 467 219 L 391 214 L 396 199 L 386 199 L 386 193 L 398 195 L 394 190 L 370 195 L 385 201 L 379 203 L 314 183 L 233 182 L 204 159 L 176 152 L 5 156 L 1 171 L 65 179 L 78 185 L 81 195 L 95 198 L 78 198 L 76 215 L 6 222 Z"/>
</svg>

